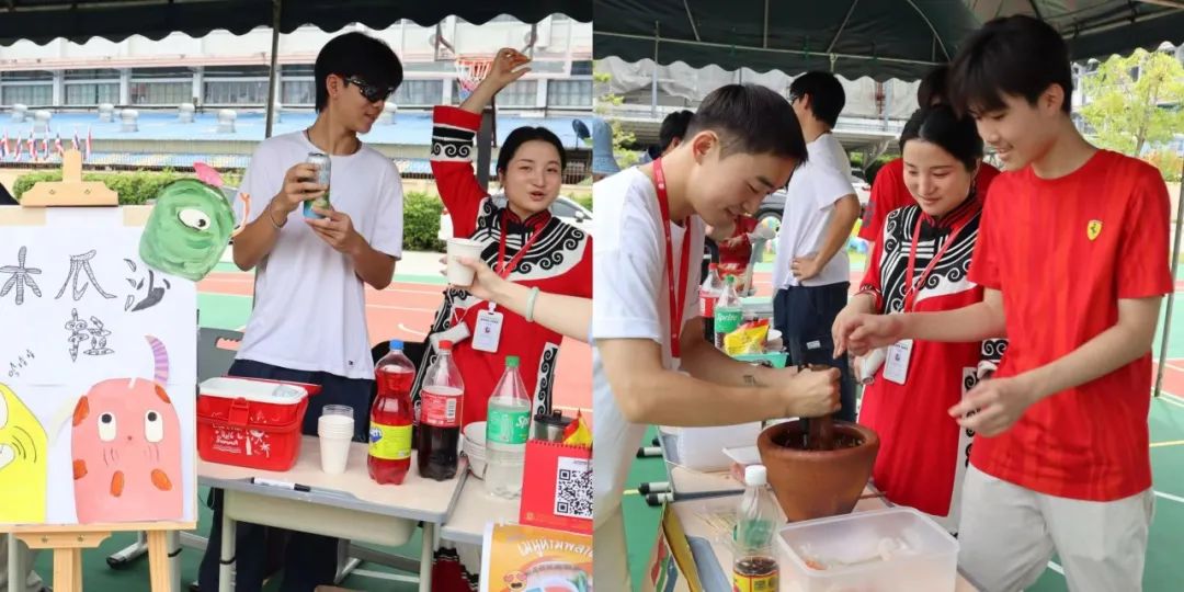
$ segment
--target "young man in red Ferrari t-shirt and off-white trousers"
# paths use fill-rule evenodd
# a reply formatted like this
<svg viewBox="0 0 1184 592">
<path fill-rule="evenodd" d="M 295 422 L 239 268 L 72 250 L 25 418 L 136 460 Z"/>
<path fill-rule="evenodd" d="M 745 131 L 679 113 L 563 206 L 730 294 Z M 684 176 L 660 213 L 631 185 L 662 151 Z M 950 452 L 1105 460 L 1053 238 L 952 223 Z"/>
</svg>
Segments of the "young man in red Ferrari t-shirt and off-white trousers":
<svg viewBox="0 0 1184 592">
<path fill-rule="evenodd" d="M 1069 590 L 1143 588 L 1151 341 L 1172 289 L 1167 189 L 1154 167 L 1081 137 L 1072 90 L 1066 44 L 1040 20 L 996 19 L 963 45 L 952 103 L 1006 168 L 970 265 L 984 302 L 838 332 L 836 352 L 893 346 L 903 365 L 913 339 L 1010 339 L 995 378 L 950 410 L 978 433 L 958 564 L 987 591 L 1031 585 L 1054 552 Z"/>
</svg>

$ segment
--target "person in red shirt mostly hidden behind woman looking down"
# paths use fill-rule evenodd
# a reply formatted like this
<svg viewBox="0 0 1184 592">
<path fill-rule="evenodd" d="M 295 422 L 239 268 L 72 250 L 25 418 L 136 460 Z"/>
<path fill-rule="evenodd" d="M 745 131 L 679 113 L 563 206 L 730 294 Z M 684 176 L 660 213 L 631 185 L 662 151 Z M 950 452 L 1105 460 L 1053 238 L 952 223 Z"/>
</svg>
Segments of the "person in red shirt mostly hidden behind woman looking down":
<svg viewBox="0 0 1184 592">
<path fill-rule="evenodd" d="M 946 98 L 948 75 L 950 66 L 946 64 L 941 64 L 925 75 L 921 84 L 916 88 L 916 104 L 933 107 L 948 103 L 950 101 Z M 991 187 L 991 180 L 998 174 L 999 169 L 986 162 L 980 162 L 978 174 L 974 176 L 976 193 L 986 195 L 986 191 Z M 868 207 L 863 210 L 858 237 L 868 243 L 875 243 L 882 234 L 884 218 L 888 217 L 889 212 L 915 204 L 916 199 L 905 186 L 905 159 L 888 161 L 883 167 L 880 167 L 871 182 L 871 197 L 868 199 Z"/>
</svg>

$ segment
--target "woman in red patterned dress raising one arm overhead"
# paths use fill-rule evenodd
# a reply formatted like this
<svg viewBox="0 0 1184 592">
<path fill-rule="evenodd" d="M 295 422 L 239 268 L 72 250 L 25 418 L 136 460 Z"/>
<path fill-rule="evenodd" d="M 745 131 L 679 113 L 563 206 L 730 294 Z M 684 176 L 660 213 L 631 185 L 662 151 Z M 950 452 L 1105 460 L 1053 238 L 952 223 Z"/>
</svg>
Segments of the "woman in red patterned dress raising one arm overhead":
<svg viewBox="0 0 1184 592">
<path fill-rule="evenodd" d="M 517 51 L 497 52 L 489 75 L 456 107 L 433 111 L 432 173 L 440 199 L 452 218 L 455 237 L 483 243 L 482 262 L 506 279 L 543 292 L 592 297 L 592 239 L 585 232 L 551 215 L 559 195 L 567 155 L 559 137 L 545 128 L 517 128 L 502 142 L 497 174 L 504 201 L 478 185 L 471 155 L 481 112 L 494 96 L 521 78 L 529 58 Z M 474 334 L 477 314 L 495 308 L 502 315 L 496 352 L 477 350 L 472 340 L 453 346 L 452 355 L 464 379 L 462 426 L 484 422 L 488 399 L 506 369 L 506 356 L 520 359 L 522 382 L 534 400 L 534 412 L 551 411 L 554 372 L 562 336 L 525 317 L 450 287 L 436 314 L 430 336 L 464 324 Z M 451 332 L 449 332 L 451 333 Z M 420 386 L 436 352 L 429 348 L 412 393 L 417 417 Z"/>
</svg>

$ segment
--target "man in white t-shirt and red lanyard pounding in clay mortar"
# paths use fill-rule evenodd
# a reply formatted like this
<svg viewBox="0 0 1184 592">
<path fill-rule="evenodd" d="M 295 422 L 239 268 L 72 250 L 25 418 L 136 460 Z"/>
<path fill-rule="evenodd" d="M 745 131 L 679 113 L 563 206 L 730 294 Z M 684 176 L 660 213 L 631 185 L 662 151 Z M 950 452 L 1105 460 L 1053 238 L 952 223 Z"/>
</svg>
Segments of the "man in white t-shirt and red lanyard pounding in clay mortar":
<svg viewBox="0 0 1184 592">
<path fill-rule="evenodd" d="M 677 148 L 593 186 L 594 579 L 604 590 L 631 590 L 620 498 L 646 424 L 732 425 L 838 408 L 836 371 L 733 361 L 703 340 L 697 318 L 704 223 L 729 227 L 754 212 L 805 156 L 785 98 L 733 84 L 707 96 Z"/>
</svg>

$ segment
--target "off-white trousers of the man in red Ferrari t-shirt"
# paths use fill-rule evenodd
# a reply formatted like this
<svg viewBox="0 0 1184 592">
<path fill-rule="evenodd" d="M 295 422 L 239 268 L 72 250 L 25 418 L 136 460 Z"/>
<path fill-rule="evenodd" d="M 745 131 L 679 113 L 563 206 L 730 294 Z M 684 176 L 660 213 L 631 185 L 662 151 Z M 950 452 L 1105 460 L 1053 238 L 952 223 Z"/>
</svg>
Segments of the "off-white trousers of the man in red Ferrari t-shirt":
<svg viewBox="0 0 1184 592">
<path fill-rule="evenodd" d="M 961 502 L 958 565 L 984 592 L 1031 586 L 1054 552 L 1073 592 L 1143 590 L 1150 489 L 1111 502 L 1069 500 L 970 466 Z"/>
</svg>

